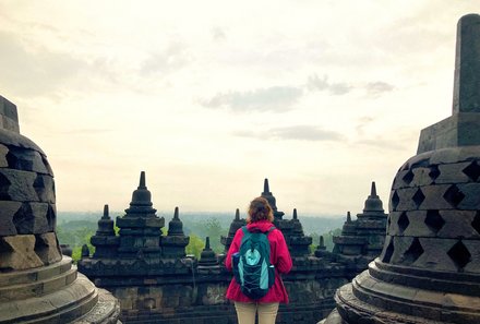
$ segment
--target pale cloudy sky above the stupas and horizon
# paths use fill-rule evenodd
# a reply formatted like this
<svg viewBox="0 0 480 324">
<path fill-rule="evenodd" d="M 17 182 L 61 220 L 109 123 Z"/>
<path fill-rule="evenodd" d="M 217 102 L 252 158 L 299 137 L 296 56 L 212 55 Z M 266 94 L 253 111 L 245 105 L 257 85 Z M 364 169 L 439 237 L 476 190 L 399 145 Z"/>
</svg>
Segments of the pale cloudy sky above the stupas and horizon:
<svg viewBox="0 0 480 324">
<path fill-rule="evenodd" d="M 452 113 L 456 24 L 480 0 L 0 2 L 0 94 L 59 212 L 361 213 Z M 161 215 L 167 216 L 168 215 Z"/>
</svg>

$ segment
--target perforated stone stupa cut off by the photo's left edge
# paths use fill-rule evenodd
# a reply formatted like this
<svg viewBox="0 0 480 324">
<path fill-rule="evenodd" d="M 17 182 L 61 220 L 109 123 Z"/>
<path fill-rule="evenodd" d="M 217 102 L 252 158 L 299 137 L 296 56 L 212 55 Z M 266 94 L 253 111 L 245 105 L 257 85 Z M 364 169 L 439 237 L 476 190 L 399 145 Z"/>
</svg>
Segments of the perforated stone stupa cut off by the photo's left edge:
<svg viewBox="0 0 480 324">
<path fill-rule="evenodd" d="M 117 322 L 120 308 L 62 256 L 53 172 L 0 96 L 0 323 Z"/>
</svg>

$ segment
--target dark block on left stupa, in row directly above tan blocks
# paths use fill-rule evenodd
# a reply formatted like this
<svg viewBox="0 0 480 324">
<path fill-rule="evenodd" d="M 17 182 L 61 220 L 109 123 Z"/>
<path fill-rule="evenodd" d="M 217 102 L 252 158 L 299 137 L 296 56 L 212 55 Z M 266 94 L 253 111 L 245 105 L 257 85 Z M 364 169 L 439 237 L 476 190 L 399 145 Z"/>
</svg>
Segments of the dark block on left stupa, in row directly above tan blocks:
<svg viewBox="0 0 480 324">
<path fill-rule="evenodd" d="M 13 218 L 16 231 L 22 235 L 52 231 L 47 219 L 48 209 L 47 203 L 23 203 Z"/>
</svg>

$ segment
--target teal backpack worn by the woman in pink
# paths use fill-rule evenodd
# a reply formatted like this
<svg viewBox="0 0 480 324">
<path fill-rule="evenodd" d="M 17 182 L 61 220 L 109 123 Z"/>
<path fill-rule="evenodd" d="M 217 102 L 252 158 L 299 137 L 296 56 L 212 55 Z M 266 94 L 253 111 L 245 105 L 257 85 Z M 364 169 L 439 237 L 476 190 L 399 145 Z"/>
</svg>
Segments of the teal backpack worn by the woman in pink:
<svg viewBox="0 0 480 324">
<path fill-rule="evenodd" d="M 274 229 L 275 226 L 272 226 L 266 232 L 250 232 L 243 226 L 240 251 L 231 256 L 235 279 L 243 295 L 253 300 L 264 297 L 275 283 L 275 267 L 269 263 L 271 247 L 267 238 Z"/>
</svg>

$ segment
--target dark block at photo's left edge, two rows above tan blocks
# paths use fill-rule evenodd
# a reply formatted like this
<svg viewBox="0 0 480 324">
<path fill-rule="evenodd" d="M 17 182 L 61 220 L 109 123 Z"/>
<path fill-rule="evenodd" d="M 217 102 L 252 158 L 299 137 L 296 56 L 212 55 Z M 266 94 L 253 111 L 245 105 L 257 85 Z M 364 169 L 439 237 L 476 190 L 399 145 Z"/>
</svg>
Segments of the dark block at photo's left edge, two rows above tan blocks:
<svg viewBox="0 0 480 324">
<path fill-rule="evenodd" d="M 16 202 L 38 202 L 33 184 L 37 173 L 0 168 L 0 199 Z"/>
</svg>

